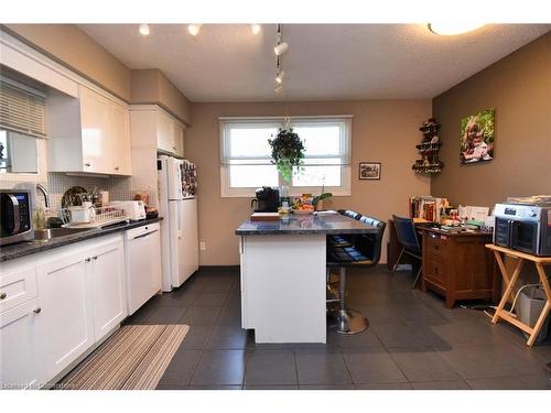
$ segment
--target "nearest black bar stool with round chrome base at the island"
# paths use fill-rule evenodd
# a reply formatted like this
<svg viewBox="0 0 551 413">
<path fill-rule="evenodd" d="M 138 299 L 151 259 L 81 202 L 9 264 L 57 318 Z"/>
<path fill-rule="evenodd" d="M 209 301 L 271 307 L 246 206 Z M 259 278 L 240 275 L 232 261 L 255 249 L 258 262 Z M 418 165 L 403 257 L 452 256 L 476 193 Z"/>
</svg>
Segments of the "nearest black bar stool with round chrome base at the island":
<svg viewBox="0 0 551 413">
<path fill-rule="evenodd" d="M 339 269 L 338 308 L 328 311 L 327 322 L 329 328 L 339 334 L 361 333 L 369 326 L 364 315 L 346 308 L 346 269 L 375 267 L 379 263 L 386 224 L 372 217 L 361 217 L 360 221 L 377 227 L 377 233 L 365 233 L 356 237 L 353 247 L 327 246 L 327 268 Z M 331 303 L 331 300 L 328 302 Z"/>
</svg>

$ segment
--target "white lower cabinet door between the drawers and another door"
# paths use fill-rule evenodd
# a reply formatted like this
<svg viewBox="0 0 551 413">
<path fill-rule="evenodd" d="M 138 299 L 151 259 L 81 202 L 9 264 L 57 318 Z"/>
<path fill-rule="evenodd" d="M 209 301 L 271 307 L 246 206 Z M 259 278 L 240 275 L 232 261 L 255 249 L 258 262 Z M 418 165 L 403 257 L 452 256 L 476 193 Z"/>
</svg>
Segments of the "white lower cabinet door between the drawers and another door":
<svg viewBox="0 0 551 413">
<path fill-rule="evenodd" d="M 87 259 L 60 257 L 37 267 L 46 374 L 54 378 L 94 345 Z"/>
</svg>

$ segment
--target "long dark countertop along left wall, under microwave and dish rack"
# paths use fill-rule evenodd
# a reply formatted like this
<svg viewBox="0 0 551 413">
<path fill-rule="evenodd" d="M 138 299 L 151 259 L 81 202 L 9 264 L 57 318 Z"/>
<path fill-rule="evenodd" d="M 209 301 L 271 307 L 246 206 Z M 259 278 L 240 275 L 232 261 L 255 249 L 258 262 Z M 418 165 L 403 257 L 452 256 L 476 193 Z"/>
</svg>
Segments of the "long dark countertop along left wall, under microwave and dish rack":
<svg viewBox="0 0 551 413">
<path fill-rule="evenodd" d="M 104 237 L 118 231 L 142 227 L 148 224 L 159 222 L 163 218 L 151 218 L 139 221 L 120 222 L 105 228 L 94 228 L 87 231 L 78 231 L 63 237 L 52 238 L 48 241 L 28 241 L 2 246 L 0 248 L 0 262 L 14 260 L 17 258 L 31 256 L 36 252 L 52 250 L 71 243 L 85 241 L 91 238 Z"/>
</svg>

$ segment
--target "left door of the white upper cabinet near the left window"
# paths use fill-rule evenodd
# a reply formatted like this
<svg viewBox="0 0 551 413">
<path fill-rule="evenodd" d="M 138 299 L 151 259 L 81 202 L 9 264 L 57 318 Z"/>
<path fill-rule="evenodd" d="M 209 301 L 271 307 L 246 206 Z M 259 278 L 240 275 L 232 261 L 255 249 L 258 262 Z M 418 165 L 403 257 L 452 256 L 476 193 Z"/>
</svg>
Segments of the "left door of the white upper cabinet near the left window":
<svg viewBox="0 0 551 413">
<path fill-rule="evenodd" d="M 110 102 L 84 86 L 80 86 L 79 93 L 83 128 L 83 171 L 111 174 Z"/>
</svg>

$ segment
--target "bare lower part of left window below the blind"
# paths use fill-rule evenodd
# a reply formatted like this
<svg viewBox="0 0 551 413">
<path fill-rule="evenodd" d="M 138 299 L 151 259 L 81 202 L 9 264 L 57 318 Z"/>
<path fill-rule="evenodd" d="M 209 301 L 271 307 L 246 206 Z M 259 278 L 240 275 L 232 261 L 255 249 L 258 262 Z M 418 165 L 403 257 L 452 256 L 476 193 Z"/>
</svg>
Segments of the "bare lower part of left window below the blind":
<svg viewBox="0 0 551 413">
<path fill-rule="evenodd" d="M 36 138 L 0 128 L 0 173 L 37 174 Z"/>
</svg>

